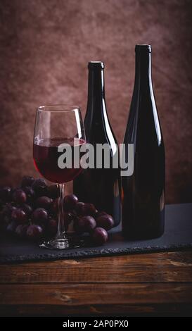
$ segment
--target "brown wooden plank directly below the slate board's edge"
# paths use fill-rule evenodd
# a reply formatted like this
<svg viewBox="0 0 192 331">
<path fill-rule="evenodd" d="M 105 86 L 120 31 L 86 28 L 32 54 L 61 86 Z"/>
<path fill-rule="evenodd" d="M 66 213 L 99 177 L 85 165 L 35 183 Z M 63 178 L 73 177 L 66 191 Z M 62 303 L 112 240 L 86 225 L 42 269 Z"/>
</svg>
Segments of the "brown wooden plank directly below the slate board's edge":
<svg viewBox="0 0 192 331">
<path fill-rule="evenodd" d="M 191 282 L 192 251 L 0 266 L 0 283 Z"/>
</svg>

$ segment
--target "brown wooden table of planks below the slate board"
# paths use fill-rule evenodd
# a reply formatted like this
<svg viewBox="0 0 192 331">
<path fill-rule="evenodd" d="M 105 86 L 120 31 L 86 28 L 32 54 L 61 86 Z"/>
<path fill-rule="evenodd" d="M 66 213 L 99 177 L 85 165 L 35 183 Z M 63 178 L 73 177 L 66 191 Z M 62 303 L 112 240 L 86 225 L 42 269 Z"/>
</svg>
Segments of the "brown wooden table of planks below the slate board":
<svg viewBox="0 0 192 331">
<path fill-rule="evenodd" d="M 1 316 L 192 314 L 192 251 L 0 266 Z"/>
</svg>

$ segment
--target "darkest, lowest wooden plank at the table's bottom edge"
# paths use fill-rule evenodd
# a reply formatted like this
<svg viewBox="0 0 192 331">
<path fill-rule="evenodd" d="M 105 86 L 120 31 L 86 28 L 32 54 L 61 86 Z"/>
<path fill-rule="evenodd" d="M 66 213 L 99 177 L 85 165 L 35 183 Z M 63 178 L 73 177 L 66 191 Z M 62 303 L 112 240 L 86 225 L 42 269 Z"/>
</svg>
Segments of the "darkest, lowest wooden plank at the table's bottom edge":
<svg viewBox="0 0 192 331">
<path fill-rule="evenodd" d="M 0 316 L 192 316 L 192 304 L 0 305 Z"/>
</svg>

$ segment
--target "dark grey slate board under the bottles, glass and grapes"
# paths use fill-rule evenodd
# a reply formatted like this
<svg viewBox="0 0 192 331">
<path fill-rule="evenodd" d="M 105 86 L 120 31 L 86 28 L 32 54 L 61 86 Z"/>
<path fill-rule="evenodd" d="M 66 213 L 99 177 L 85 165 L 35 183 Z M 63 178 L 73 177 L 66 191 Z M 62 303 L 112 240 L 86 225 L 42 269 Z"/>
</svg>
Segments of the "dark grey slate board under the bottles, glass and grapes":
<svg viewBox="0 0 192 331">
<path fill-rule="evenodd" d="M 171 251 L 192 247 L 192 204 L 168 205 L 165 208 L 165 234 L 158 239 L 127 241 L 120 227 L 110 231 L 109 241 L 98 247 L 84 247 L 68 251 L 40 249 L 37 244 L 18 239 L 1 239 L 0 262 L 48 261 L 65 258 L 85 258 L 118 254 Z"/>
</svg>

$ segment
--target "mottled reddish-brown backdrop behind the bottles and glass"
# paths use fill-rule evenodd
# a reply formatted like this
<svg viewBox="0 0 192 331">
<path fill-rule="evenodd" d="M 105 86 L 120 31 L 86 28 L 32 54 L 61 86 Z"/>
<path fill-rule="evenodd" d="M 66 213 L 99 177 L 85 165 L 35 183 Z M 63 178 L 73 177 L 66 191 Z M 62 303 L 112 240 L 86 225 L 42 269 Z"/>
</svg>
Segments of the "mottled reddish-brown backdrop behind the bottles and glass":
<svg viewBox="0 0 192 331">
<path fill-rule="evenodd" d="M 122 142 L 134 45 L 153 46 L 167 202 L 191 201 L 191 0 L 1 0 L 0 185 L 36 177 L 35 108 L 87 103 L 87 62 L 105 62 L 108 115 Z"/>
</svg>

